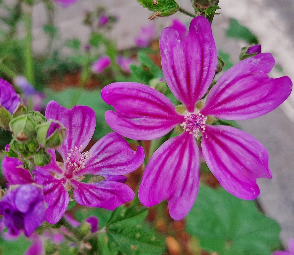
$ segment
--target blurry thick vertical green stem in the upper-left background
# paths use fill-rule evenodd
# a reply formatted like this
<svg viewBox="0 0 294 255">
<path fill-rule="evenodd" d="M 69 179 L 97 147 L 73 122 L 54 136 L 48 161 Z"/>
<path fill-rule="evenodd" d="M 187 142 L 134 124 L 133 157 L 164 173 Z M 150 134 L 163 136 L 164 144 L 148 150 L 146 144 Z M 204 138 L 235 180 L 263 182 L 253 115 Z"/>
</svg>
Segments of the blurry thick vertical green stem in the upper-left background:
<svg viewBox="0 0 294 255">
<path fill-rule="evenodd" d="M 26 27 L 26 38 L 25 38 L 25 76 L 29 83 L 35 84 L 34 78 L 34 59 L 33 59 L 33 49 L 32 49 L 32 6 L 23 2 L 22 9 L 24 12 L 24 24 Z"/>
</svg>

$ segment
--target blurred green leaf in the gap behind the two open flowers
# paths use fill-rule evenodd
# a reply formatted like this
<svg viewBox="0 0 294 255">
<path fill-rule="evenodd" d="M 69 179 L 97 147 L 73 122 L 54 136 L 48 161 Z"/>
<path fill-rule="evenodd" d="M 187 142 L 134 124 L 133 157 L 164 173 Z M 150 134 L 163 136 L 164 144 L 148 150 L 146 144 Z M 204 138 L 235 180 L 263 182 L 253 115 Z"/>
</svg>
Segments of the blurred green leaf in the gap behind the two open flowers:
<svg viewBox="0 0 294 255">
<path fill-rule="evenodd" d="M 55 100 L 59 102 L 60 105 L 66 108 L 71 108 L 74 104 L 76 105 L 86 105 L 91 107 L 96 113 L 96 129 L 93 137 L 100 139 L 104 135 L 111 132 L 111 128 L 107 125 L 104 119 L 104 114 L 107 110 L 112 110 L 113 108 L 106 104 L 101 98 L 100 90 L 83 90 L 79 95 L 78 88 L 71 88 L 64 90 L 62 92 L 55 92 L 51 89 L 44 90 L 46 94 L 46 101 Z M 77 101 L 75 99 L 78 98 Z M 72 103 L 72 101 L 75 101 Z"/>
</svg>

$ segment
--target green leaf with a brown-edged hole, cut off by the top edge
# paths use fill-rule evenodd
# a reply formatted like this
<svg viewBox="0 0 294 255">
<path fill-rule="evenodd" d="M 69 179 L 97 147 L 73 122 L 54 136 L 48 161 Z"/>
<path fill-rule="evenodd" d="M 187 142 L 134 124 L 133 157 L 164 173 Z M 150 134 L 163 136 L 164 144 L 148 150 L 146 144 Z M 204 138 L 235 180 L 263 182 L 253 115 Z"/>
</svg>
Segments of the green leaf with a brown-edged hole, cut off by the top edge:
<svg viewBox="0 0 294 255">
<path fill-rule="evenodd" d="M 137 0 L 150 11 L 159 12 L 161 16 L 170 16 L 180 8 L 174 0 Z"/>
</svg>

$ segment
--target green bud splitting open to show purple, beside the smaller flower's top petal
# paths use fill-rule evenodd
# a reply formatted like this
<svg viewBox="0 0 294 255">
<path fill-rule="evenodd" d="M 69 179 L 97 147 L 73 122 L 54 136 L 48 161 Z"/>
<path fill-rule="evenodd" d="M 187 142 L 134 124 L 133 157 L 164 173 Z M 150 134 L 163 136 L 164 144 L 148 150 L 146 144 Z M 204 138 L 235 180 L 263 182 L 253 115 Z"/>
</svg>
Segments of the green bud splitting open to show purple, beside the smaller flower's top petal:
<svg viewBox="0 0 294 255">
<path fill-rule="evenodd" d="M 59 147 L 66 135 L 66 128 L 57 120 L 48 120 L 37 125 L 37 139 L 47 148 Z"/>
</svg>

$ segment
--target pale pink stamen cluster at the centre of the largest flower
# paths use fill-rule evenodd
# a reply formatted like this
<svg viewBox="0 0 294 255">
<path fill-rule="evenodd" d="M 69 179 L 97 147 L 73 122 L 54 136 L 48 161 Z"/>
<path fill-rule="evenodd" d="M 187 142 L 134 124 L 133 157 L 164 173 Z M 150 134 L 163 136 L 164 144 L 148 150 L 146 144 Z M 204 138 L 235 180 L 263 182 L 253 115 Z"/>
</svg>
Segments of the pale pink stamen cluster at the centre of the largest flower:
<svg viewBox="0 0 294 255">
<path fill-rule="evenodd" d="M 199 138 L 199 133 L 205 132 L 205 122 L 207 117 L 202 115 L 200 112 L 197 114 L 188 112 L 185 115 L 185 121 L 181 124 L 183 130 L 193 134 L 195 138 Z"/>
</svg>

